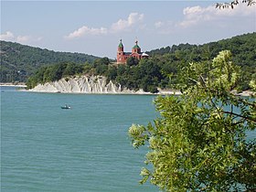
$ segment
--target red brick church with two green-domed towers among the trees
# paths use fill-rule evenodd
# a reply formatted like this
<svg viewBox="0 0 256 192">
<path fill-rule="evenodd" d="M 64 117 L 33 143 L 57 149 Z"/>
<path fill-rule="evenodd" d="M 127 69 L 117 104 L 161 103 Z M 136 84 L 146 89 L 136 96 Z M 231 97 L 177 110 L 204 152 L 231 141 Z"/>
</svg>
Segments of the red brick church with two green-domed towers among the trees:
<svg viewBox="0 0 256 192">
<path fill-rule="evenodd" d="M 122 39 L 120 39 L 120 43 L 117 48 L 117 64 L 125 64 L 126 60 L 128 58 L 136 58 L 138 60 L 143 59 L 143 58 L 148 58 L 149 56 L 141 51 L 141 48 L 138 46 L 138 41 L 135 41 L 135 45 L 132 48 L 132 52 L 124 52 L 123 51 L 123 43 Z"/>
</svg>

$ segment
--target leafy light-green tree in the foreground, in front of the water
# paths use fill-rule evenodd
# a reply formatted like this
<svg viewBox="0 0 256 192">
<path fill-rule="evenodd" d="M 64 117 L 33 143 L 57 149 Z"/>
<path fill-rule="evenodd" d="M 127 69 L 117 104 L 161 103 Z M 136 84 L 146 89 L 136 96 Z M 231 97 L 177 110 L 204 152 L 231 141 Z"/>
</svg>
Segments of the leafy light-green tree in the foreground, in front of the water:
<svg viewBox="0 0 256 192">
<path fill-rule="evenodd" d="M 229 51 L 183 69 L 183 94 L 158 97 L 155 124 L 133 124 L 135 148 L 149 144 L 142 183 L 166 191 L 236 191 L 256 188 L 256 101 L 234 96 L 240 68 Z M 251 87 L 256 91 L 255 80 Z"/>
</svg>

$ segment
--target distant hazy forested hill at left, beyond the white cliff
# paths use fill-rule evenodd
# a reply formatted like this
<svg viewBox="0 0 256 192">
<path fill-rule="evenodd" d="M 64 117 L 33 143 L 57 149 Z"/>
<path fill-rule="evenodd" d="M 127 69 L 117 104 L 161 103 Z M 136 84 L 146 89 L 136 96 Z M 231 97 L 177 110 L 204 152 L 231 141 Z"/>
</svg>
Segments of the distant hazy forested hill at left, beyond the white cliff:
<svg viewBox="0 0 256 192">
<path fill-rule="evenodd" d="M 6 41 L 1 41 L 0 56 L 1 82 L 26 81 L 37 69 L 49 64 L 64 61 L 84 64 L 99 59 L 82 53 L 56 52 Z"/>
</svg>

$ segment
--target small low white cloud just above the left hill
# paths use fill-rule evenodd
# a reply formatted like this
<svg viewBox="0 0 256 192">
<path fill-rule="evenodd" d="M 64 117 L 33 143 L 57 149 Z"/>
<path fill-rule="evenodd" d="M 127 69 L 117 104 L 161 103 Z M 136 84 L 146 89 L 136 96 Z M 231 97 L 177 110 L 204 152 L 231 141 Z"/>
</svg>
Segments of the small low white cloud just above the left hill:
<svg viewBox="0 0 256 192">
<path fill-rule="evenodd" d="M 5 41 L 14 41 L 21 44 L 29 44 L 40 41 L 42 37 L 15 36 L 11 31 L 6 31 L 4 34 L 0 35 L 0 39 Z"/>
</svg>

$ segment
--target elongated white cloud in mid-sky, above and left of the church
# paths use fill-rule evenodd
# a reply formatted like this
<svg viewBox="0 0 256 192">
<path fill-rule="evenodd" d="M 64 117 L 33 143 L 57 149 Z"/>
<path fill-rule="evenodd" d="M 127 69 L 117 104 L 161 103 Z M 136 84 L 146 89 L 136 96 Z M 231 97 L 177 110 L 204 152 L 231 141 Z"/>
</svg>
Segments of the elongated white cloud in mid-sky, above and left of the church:
<svg viewBox="0 0 256 192">
<path fill-rule="evenodd" d="M 116 23 L 113 23 L 111 27 L 87 27 L 83 26 L 79 29 L 73 31 L 68 36 L 65 36 L 67 39 L 79 38 L 84 36 L 98 36 L 106 35 L 108 33 L 118 33 L 121 31 L 127 31 L 133 27 L 143 28 L 144 25 L 141 25 L 144 20 L 144 14 L 131 13 L 127 19 L 119 19 Z"/>
</svg>

